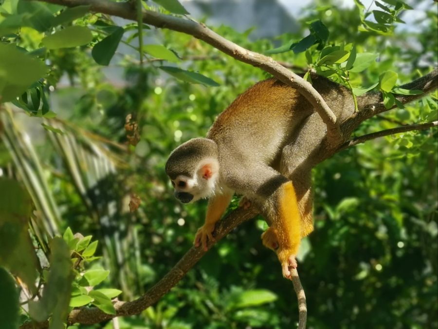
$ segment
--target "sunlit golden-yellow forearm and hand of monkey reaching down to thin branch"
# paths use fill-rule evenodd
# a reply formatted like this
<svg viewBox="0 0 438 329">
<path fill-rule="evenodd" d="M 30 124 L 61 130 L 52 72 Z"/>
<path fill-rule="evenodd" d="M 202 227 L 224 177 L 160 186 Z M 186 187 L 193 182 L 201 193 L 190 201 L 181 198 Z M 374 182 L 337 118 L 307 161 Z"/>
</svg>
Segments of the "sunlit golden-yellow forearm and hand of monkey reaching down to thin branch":
<svg viewBox="0 0 438 329">
<path fill-rule="evenodd" d="M 277 256 L 283 276 L 291 277 L 289 267 L 296 268 L 295 256 L 301 240 L 301 218 L 292 182 L 280 187 L 276 216 L 272 227 L 277 235 Z"/>
</svg>

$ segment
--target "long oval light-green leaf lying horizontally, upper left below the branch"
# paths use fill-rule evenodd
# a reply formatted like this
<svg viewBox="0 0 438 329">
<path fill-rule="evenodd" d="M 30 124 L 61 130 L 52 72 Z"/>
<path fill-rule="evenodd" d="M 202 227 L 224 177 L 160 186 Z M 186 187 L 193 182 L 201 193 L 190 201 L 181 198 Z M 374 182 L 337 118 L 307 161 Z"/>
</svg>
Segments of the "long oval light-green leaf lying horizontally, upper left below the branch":
<svg viewBox="0 0 438 329">
<path fill-rule="evenodd" d="M 42 39 L 47 49 L 72 48 L 90 43 L 93 39 L 90 29 L 85 26 L 69 26 Z"/>
</svg>

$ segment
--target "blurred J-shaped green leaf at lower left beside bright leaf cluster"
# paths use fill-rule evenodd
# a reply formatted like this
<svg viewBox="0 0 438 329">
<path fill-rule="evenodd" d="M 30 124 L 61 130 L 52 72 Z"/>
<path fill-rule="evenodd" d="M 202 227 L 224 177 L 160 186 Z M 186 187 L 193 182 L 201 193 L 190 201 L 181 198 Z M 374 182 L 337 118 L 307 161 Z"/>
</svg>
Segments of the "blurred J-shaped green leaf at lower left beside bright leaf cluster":
<svg viewBox="0 0 438 329">
<path fill-rule="evenodd" d="M 52 313 L 50 329 L 61 329 L 67 317 L 74 274 L 70 264 L 70 251 L 61 237 L 50 241 L 50 271 L 42 297 L 29 302 L 29 314 L 38 322 Z"/>
</svg>

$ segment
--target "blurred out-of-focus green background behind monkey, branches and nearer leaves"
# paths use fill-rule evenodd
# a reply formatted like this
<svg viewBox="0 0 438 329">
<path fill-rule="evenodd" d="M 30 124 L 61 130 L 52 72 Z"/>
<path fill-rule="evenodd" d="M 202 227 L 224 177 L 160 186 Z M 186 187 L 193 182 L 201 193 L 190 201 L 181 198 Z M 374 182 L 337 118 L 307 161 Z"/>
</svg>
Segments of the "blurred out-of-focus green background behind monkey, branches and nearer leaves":
<svg viewBox="0 0 438 329">
<path fill-rule="evenodd" d="M 302 38 L 305 22 L 321 19 L 331 42 L 356 42 L 362 51 L 380 54 L 368 70 L 352 75 L 353 81 L 367 86 L 393 70 L 404 83 L 437 65 L 437 5 L 412 5 L 423 14 L 392 36 L 358 32 L 357 9 L 335 1 L 303 8 L 298 30 L 279 37 L 248 38 L 251 30 L 226 26 L 215 31 L 265 52 Z M 203 222 L 206 201 L 182 205 L 174 199 L 164 173 L 167 156 L 182 142 L 204 136 L 238 94 L 268 77 L 190 36 L 144 33 L 186 59 L 184 69 L 220 85 L 181 82 L 158 70 L 153 58 L 141 67 L 138 54 L 124 45 L 104 70 L 83 47 L 59 49 L 46 58 L 56 118 L 28 117 L 12 106 L 0 113 L 1 174 L 16 177 L 31 194 L 37 239 L 44 245 L 47 236 L 67 227 L 91 234 L 103 256 L 97 266 L 110 270 L 102 286 L 121 289 L 123 300 L 138 297 L 163 277 L 191 247 Z M 37 49 L 42 38 L 28 27 L 20 37 L 27 50 Z M 305 72 L 304 53 L 274 58 Z M 367 120 L 355 135 L 436 120 L 430 99 Z M 136 147 L 126 143 L 128 114 L 139 126 Z M 314 169 L 315 232 L 303 240 L 298 257 L 308 328 L 438 327 L 437 161 L 437 133 L 430 130 L 369 141 Z M 141 204 L 129 213 L 132 193 Z M 233 202 L 236 206 L 238 199 Z M 119 328 L 294 328 L 296 296 L 275 254 L 262 247 L 265 225 L 256 218 L 238 227 L 158 304 L 139 316 L 119 318 Z"/>
</svg>

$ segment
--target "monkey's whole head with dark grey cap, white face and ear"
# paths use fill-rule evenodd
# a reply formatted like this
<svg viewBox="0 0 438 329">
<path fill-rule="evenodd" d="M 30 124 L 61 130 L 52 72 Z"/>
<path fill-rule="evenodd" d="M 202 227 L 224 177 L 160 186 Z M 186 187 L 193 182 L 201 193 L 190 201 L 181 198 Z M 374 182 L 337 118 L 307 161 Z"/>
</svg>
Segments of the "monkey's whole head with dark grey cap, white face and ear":
<svg viewBox="0 0 438 329">
<path fill-rule="evenodd" d="M 214 194 L 219 177 L 218 154 L 213 140 L 193 138 L 169 155 L 165 170 L 176 198 L 189 203 Z"/>
</svg>

